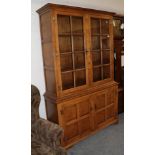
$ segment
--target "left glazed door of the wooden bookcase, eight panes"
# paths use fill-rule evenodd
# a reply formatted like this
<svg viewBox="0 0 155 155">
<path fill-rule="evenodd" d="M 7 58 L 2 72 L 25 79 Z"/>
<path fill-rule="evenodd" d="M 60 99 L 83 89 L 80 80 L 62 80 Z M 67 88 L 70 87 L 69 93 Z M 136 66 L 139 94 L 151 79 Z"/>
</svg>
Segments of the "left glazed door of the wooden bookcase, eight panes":
<svg viewBox="0 0 155 155">
<path fill-rule="evenodd" d="M 84 17 L 57 14 L 61 91 L 87 84 Z"/>
</svg>

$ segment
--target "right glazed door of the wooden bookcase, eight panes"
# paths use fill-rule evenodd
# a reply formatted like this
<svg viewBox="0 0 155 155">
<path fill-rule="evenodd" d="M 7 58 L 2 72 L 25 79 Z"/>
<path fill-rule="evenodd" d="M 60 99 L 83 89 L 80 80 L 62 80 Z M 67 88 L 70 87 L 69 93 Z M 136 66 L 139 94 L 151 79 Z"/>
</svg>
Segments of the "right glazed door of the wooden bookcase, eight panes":
<svg viewBox="0 0 155 155">
<path fill-rule="evenodd" d="M 92 82 L 112 78 L 112 25 L 110 19 L 90 17 Z"/>
</svg>

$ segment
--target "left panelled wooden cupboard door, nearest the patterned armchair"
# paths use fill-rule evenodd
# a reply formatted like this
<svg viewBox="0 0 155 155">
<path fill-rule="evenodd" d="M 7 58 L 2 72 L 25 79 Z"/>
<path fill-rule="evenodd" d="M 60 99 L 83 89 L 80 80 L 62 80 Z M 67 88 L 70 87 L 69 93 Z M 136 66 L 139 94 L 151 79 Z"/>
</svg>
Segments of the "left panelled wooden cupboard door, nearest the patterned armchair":
<svg viewBox="0 0 155 155">
<path fill-rule="evenodd" d="M 92 130 L 92 108 L 89 96 L 64 102 L 60 105 L 61 125 L 65 145 L 88 135 Z"/>
</svg>

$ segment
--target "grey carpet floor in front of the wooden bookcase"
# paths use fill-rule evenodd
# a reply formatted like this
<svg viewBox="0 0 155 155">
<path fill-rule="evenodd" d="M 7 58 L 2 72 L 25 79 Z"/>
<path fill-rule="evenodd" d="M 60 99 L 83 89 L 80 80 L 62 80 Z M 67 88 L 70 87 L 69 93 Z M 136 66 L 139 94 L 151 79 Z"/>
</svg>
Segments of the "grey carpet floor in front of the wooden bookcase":
<svg viewBox="0 0 155 155">
<path fill-rule="evenodd" d="M 124 114 L 111 125 L 68 149 L 68 155 L 124 155 Z"/>
</svg>

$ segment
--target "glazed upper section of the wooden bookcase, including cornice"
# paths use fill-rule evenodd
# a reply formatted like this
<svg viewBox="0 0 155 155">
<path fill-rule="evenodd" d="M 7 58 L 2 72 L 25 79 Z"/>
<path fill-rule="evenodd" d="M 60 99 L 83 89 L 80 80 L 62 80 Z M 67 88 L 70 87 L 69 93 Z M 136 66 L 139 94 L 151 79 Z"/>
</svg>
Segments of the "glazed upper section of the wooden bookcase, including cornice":
<svg viewBox="0 0 155 155">
<path fill-rule="evenodd" d="M 47 92 L 62 97 L 114 80 L 114 13 L 56 4 L 37 12 Z"/>
</svg>

